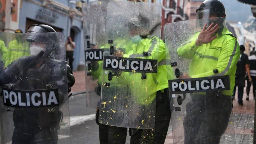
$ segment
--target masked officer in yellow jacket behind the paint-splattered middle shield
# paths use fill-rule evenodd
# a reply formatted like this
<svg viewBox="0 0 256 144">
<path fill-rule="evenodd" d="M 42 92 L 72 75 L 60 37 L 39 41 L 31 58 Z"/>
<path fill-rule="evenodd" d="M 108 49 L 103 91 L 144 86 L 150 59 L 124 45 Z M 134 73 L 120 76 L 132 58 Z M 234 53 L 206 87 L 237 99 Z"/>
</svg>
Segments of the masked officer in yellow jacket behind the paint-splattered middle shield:
<svg viewBox="0 0 256 144">
<path fill-rule="evenodd" d="M 150 33 L 145 35 L 143 33 L 145 25 L 141 25 L 143 23 L 148 23 L 148 19 L 143 16 L 139 17 L 139 21 L 129 23 L 131 40 L 134 45 L 128 54 L 124 54 L 124 57 L 158 60 L 158 72 L 156 74 L 146 74 L 145 81 L 141 81 L 141 74 L 131 74 L 137 81 L 130 81 L 132 93 L 142 105 L 146 107 L 156 100 L 155 126 L 153 129 L 130 129 L 130 144 L 163 144 L 171 117 L 165 44 L 158 37 L 149 38 Z M 136 87 L 146 88 L 150 94 L 145 97 L 144 91 L 136 90 Z M 152 89 L 152 87 L 156 87 L 156 89 Z"/>
</svg>

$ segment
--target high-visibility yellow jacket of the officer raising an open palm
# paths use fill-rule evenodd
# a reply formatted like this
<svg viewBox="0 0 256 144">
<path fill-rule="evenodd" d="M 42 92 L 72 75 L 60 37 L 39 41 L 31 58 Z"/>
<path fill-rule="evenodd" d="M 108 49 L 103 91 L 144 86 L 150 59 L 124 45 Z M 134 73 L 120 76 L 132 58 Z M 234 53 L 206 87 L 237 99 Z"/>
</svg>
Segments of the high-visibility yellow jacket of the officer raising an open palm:
<svg viewBox="0 0 256 144">
<path fill-rule="evenodd" d="M 229 75 L 230 90 L 223 91 L 225 95 L 233 95 L 235 86 L 236 64 L 240 57 L 239 44 L 236 37 L 224 28 L 222 35 L 217 35 L 212 42 L 196 45 L 196 33 L 190 41 L 177 49 L 179 56 L 192 59 L 189 65 L 189 76 L 192 78 Z M 213 70 L 218 70 L 214 73 Z"/>
</svg>

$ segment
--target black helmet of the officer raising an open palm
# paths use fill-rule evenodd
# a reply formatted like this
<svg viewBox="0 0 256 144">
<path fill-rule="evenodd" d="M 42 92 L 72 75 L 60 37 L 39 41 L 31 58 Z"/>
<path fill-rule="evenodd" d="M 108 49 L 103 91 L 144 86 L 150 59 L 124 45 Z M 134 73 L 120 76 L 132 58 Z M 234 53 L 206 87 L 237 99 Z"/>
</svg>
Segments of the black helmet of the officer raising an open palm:
<svg viewBox="0 0 256 144">
<path fill-rule="evenodd" d="M 209 18 L 210 15 L 226 18 L 225 7 L 218 0 L 205 0 L 196 10 L 196 15 L 198 19 Z"/>
</svg>

